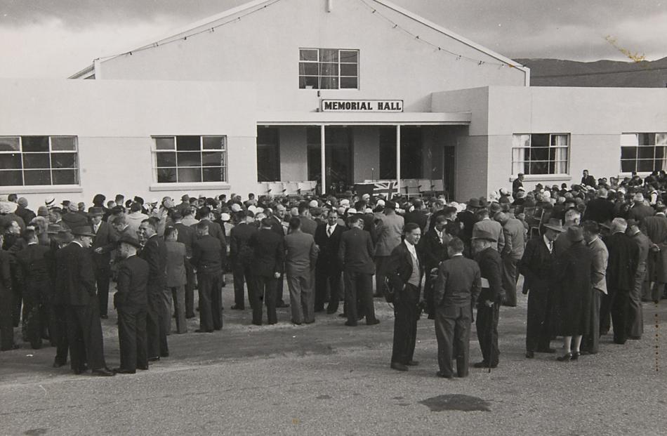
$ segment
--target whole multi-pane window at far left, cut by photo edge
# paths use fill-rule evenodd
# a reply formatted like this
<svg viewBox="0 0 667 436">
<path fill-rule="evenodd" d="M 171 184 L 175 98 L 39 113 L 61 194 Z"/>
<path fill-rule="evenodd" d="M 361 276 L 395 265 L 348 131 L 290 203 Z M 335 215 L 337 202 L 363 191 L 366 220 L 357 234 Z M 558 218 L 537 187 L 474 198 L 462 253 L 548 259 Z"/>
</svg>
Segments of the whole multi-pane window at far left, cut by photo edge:
<svg viewBox="0 0 667 436">
<path fill-rule="evenodd" d="M 0 136 L 0 186 L 79 185 L 76 136 Z"/>
</svg>

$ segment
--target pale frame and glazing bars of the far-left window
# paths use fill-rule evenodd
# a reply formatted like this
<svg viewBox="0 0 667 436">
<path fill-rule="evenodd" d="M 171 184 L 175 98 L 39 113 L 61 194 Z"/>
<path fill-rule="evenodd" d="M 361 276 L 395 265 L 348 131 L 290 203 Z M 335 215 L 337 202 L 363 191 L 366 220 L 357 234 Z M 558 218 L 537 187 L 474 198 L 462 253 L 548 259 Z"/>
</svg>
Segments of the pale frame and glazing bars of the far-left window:
<svg viewBox="0 0 667 436">
<path fill-rule="evenodd" d="M 5 171 L 20 171 L 21 173 L 21 185 L 0 185 L 1 189 L 8 189 L 11 187 L 18 188 L 38 188 L 38 189 L 48 189 L 48 187 L 81 187 L 81 162 L 79 159 L 79 137 L 76 135 L 3 135 L 0 136 L 0 140 L 6 138 L 18 139 L 18 150 L 0 150 L 0 154 L 19 154 L 20 156 L 20 168 L 12 169 L 0 169 L 0 173 Z M 46 151 L 25 151 L 24 150 L 24 141 L 25 138 L 47 138 L 48 140 L 48 149 Z M 71 138 L 74 150 L 58 150 L 53 148 L 53 140 L 58 138 Z M 24 157 L 29 157 L 30 155 L 37 154 L 48 154 L 48 168 L 39 167 L 39 168 L 26 168 Z M 53 166 L 53 154 L 74 154 L 74 166 L 67 168 L 58 168 Z M 41 183 L 41 184 L 26 184 L 26 171 L 48 171 L 48 176 L 50 183 Z M 54 171 L 74 171 L 74 183 L 53 183 L 54 181 Z"/>
</svg>

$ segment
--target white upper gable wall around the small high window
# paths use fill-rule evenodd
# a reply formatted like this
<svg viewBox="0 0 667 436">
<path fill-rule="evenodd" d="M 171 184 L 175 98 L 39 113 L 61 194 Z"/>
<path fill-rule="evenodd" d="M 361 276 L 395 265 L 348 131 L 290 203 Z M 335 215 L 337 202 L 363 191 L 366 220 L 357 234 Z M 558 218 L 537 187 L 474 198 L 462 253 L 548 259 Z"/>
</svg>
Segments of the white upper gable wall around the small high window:
<svg viewBox="0 0 667 436">
<path fill-rule="evenodd" d="M 433 91 L 524 85 L 524 71 L 490 63 L 478 65 L 465 58 L 456 60 L 423 41 L 484 62 L 500 62 L 372 0 L 369 4 L 378 13 L 372 13 L 359 0 L 336 0 L 331 13 L 326 12 L 323 0 L 280 1 L 218 27 L 215 32 L 206 31 L 186 41 L 182 38 L 187 34 L 181 34 L 171 44 L 100 62 L 98 76 L 253 81 L 257 85 L 258 110 L 298 112 L 317 111 L 320 96 L 401 99 L 406 112 L 428 112 Z M 418 34 L 423 41 L 394 29 L 379 13 Z M 200 29 L 210 29 L 215 24 Z M 359 49 L 359 89 L 319 93 L 299 89 L 299 48 Z M 353 114 L 351 118 L 354 119 Z"/>
</svg>

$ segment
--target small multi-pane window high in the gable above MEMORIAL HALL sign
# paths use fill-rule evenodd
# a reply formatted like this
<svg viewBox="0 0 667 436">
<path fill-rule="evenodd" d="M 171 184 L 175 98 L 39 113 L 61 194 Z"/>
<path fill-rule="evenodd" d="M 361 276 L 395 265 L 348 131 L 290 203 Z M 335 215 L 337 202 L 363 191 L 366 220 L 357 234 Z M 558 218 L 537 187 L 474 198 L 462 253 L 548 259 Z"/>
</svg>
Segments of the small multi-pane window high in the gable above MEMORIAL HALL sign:
<svg viewBox="0 0 667 436">
<path fill-rule="evenodd" d="M 358 89 L 359 51 L 300 48 L 299 88 Z"/>
</svg>

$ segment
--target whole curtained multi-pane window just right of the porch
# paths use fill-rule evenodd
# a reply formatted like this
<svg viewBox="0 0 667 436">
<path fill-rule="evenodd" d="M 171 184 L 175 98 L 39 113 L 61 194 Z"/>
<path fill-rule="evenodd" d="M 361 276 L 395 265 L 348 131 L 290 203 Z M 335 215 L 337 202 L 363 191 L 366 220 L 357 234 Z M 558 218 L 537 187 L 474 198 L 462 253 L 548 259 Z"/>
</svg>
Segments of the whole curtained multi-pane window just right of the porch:
<svg viewBox="0 0 667 436">
<path fill-rule="evenodd" d="M 530 133 L 514 135 L 512 173 L 567 174 L 569 135 Z"/>
</svg>

